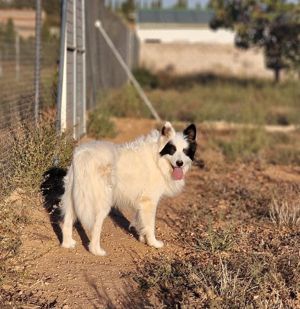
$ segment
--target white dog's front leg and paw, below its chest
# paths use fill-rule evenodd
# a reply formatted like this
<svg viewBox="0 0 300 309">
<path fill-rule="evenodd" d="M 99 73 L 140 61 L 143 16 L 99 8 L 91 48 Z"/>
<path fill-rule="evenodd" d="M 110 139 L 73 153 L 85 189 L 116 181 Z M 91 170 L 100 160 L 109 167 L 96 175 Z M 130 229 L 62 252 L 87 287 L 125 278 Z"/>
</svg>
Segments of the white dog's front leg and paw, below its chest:
<svg viewBox="0 0 300 309">
<path fill-rule="evenodd" d="M 141 203 L 139 210 L 139 221 L 141 225 L 139 240 L 145 242 L 146 238 L 149 246 L 162 248 L 164 243 L 155 237 L 155 216 L 156 205 L 150 199 Z"/>
</svg>

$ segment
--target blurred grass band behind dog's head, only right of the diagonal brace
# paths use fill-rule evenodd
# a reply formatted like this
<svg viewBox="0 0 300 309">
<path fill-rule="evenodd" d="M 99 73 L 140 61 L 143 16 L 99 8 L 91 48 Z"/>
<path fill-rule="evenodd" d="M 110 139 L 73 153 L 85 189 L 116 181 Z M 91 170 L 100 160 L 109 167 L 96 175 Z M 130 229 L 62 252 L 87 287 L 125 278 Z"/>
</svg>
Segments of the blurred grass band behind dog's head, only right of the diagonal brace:
<svg viewBox="0 0 300 309">
<path fill-rule="evenodd" d="M 196 122 L 299 123 L 299 87 L 286 82 L 274 88 L 264 80 L 195 75 L 159 77 L 160 89 L 148 95 L 165 119 Z"/>
</svg>

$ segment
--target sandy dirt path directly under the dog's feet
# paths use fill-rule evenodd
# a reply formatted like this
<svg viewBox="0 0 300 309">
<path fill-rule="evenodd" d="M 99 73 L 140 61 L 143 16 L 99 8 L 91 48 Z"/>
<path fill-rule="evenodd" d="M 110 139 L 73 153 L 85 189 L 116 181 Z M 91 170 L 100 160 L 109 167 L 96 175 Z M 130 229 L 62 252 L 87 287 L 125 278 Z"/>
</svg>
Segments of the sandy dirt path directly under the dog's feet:
<svg viewBox="0 0 300 309">
<path fill-rule="evenodd" d="M 157 234 L 166 243 L 164 254 L 174 253 L 166 207 L 158 212 Z M 59 246 L 49 219 L 43 211 L 25 232 L 24 251 L 27 257 L 27 271 L 33 278 L 31 291 L 42 298 L 58 303 L 58 307 L 106 308 L 109 302 L 118 305 L 124 302 L 128 293 L 128 278 L 122 278 L 149 257 L 159 254 L 155 249 L 139 243 L 128 232 L 128 222 L 119 215 L 106 219 L 102 233 L 102 246 L 106 257 L 96 257 L 87 250 L 87 239 L 75 231 L 77 246 L 66 250 Z M 82 232 L 80 232 L 82 235 Z M 67 308 L 67 307 L 66 307 Z"/>
</svg>

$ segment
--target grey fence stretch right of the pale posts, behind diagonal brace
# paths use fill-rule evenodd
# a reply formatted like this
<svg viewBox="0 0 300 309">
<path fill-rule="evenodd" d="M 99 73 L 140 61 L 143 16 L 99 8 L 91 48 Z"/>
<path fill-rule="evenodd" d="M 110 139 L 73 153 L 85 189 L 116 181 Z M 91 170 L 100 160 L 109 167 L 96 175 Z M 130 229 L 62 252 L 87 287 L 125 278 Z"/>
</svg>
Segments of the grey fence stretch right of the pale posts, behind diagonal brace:
<svg viewBox="0 0 300 309">
<path fill-rule="evenodd" d="M 139 41 L 133 29 L 130 29 L 120 16 L 107 9 L 104 1 L 86 1 L 88 108 L 95 106 L 101 92 L 120 87 L 128 80 L 112 50 L 95 28 L 97 20 L 102 23 L 129 68 L 132 69 L 138 65 Z"/>
</svg>

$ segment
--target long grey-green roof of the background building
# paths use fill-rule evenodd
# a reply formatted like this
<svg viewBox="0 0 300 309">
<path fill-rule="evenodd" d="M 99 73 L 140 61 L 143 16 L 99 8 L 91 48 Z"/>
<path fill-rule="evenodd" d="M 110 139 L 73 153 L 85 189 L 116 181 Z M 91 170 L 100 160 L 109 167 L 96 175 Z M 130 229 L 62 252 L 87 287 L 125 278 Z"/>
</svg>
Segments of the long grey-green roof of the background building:
<svg viewBox="0 0 300 309">
<path fill-rule="evenodd" d="M 209 10 L 140 9 L 139 24 L 208 24 L 213 17 Z"/>
</svg>

